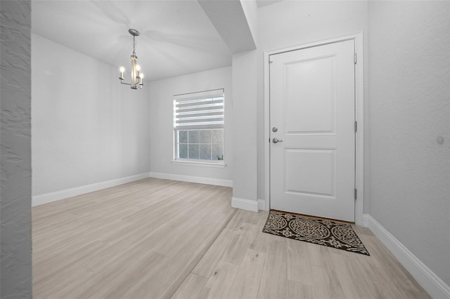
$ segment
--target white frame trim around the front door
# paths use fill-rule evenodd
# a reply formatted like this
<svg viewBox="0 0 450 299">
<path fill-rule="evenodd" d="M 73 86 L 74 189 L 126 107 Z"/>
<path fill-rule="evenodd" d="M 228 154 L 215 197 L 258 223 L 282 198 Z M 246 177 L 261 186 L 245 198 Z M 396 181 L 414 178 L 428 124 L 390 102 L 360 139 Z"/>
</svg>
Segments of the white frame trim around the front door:
<svg viewBox="0 0 450 299">
<path fill-rule="evenodd" d="M 272 51 L 264 51 L 264 210 L 270 207 L 270 72 L 269 56 L 289 51 L 301 50 L 315 46 L 337 43 L 339 41 L 354 40 L 357 63 L 355 65 L 355 121 L 358 129 L 355 136 L 355 188 L 356 200 L 354 206 L 354 220 L 357 225 L 363 225 L 364 203 L 364 53 L 363 32 L 347 34 L 330 39 L 312 41 L 306 44 L 290 46 Z"/>
</svg>

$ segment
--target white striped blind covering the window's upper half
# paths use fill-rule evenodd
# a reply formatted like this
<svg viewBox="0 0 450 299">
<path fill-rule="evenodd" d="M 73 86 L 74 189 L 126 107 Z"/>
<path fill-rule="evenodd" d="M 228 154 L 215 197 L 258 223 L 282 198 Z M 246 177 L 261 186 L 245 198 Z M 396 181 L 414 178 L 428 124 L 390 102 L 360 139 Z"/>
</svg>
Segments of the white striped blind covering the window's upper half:
<svg viewBox="0 0 450 299">
<path fill-rule="evenodd" d="M 224 90 L 174 95 L 174 128 L 224 128 Z"/>
</svg>

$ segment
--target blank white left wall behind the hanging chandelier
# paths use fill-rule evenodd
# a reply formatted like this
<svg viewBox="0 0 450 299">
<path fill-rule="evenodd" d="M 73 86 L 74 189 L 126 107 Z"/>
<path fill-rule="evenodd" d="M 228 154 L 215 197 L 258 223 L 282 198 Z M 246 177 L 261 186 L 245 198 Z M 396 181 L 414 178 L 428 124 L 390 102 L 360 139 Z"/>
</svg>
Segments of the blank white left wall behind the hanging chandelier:
<svg viewBox="0 0 450 299">
<path fill-rule="evenodd" d="M 150 171 L 148 85 L 32 34 L 34 196 Z"/>
</svg>

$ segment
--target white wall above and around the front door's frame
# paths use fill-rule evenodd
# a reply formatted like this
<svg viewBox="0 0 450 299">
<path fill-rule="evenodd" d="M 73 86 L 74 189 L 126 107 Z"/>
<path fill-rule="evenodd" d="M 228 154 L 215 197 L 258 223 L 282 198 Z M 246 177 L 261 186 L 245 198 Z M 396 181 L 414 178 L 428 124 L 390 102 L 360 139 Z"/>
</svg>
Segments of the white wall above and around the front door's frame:
<svg viewBox="0 0 450 299">
<path fill-rule="evenodd" d="M 264 194 L 264 51 L 306 44 L 362 31 L 364 58 L 367 58 L 368 6 L 366 1 L 281 1 L 259 8 L 258 12 L 258 199 Z M 365 59 L 364 64 L 368 62 Z M 365 105 L 368 103 L 367 71 L 364 78 Z M 368 106 L 368 105 L 367 105 Z M 368 109 L 365 109 L 364 140 L 368 140 Z M 368 144 L 364 147 L 364 165 L 369 164 Z M 366 182 L 368 180 L 365 180 Z M 364 186 L 364 211 L 368 211 L 369 186 Z"/>
</svg>

